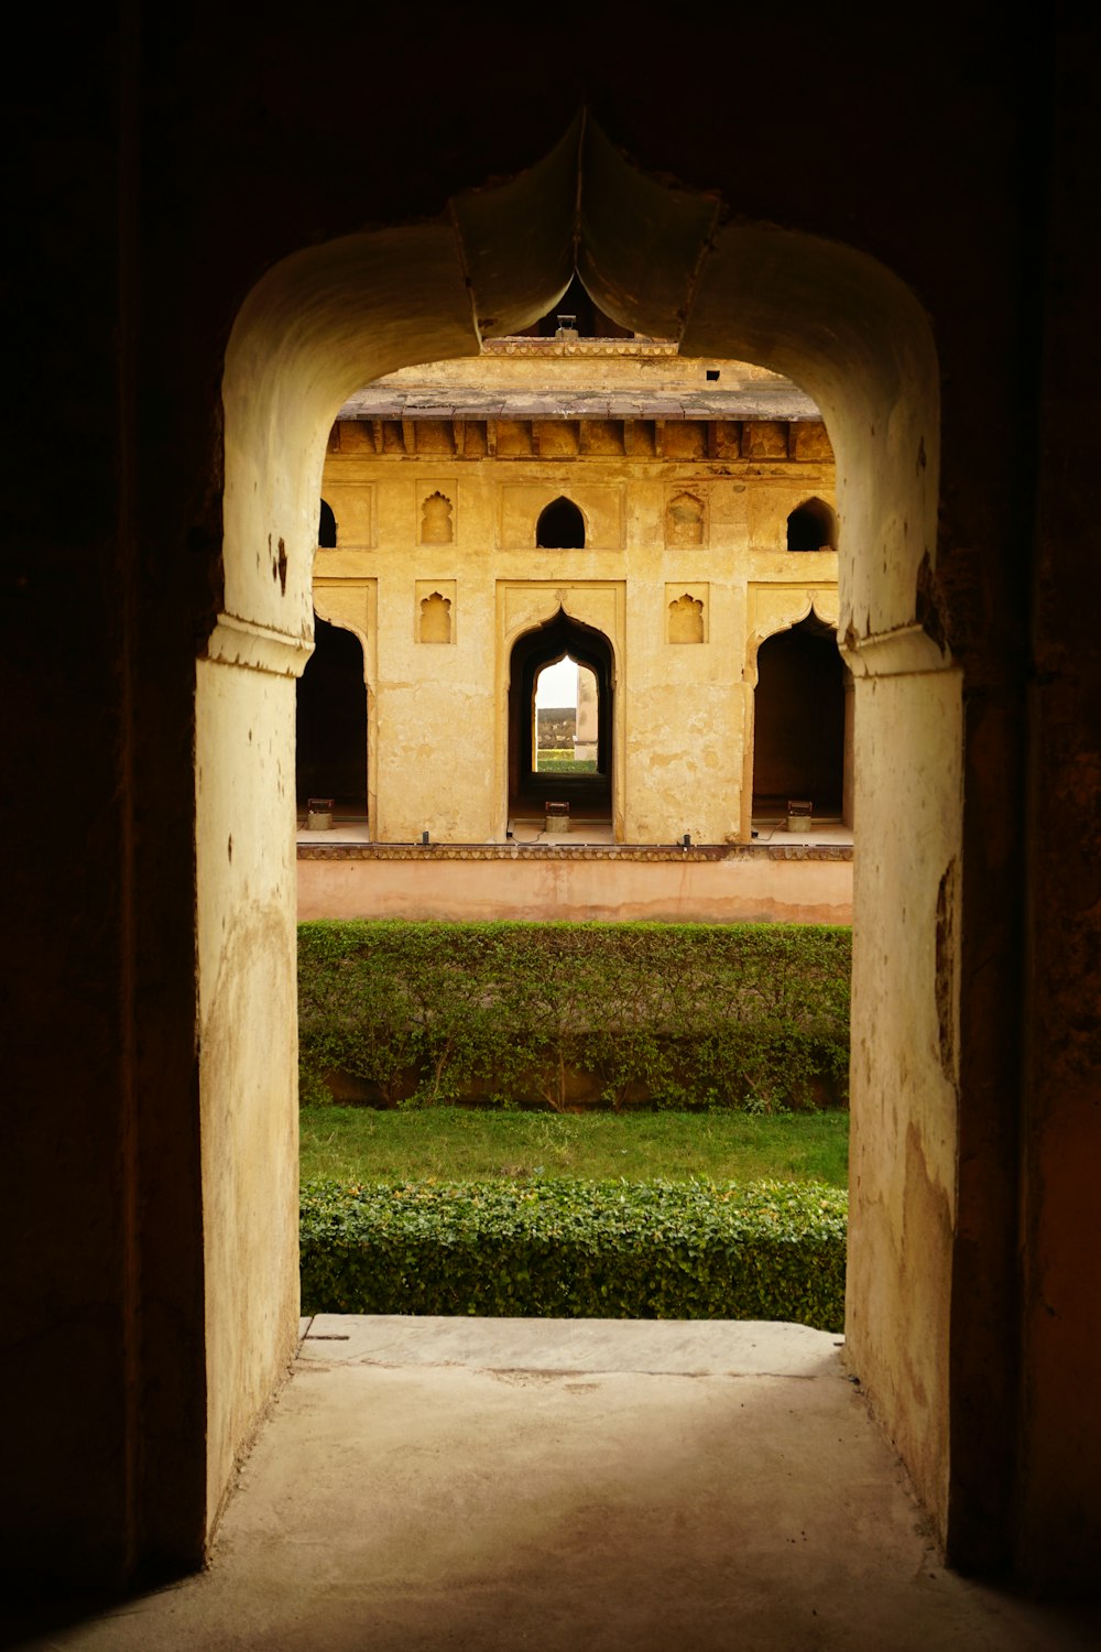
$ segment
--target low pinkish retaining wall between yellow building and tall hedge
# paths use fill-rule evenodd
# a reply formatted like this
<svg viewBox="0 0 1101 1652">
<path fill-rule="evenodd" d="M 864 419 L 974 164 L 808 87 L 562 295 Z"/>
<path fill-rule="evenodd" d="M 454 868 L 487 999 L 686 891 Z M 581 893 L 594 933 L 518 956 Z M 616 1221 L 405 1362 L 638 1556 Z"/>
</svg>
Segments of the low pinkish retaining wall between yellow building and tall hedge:
<svg viewBox="0 0 1101 1652">
<path fill-rule="evenodd" d="M 852 923 L 852 849 L 299 844 L 299 920 Z"/>
</svg>

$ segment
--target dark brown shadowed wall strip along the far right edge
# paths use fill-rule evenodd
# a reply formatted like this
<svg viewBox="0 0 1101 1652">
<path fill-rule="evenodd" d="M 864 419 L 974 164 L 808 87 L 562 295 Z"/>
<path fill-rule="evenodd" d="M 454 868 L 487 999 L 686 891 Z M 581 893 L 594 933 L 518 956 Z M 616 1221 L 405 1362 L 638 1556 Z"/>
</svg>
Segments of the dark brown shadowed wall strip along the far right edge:
<svg viewBox="0 0 1101 1652">
<path fill-rule="evenodd" d="M 1098 175 L 1089 119 L 1096 30 L 1076 17 L 1056 69 L 1047 292 L 1038 383 L 1038 545 L 1032 603 L 1030 900 L 1022 1107 L 1023 1518 L 1017 1568 L 1080 1588 L 1083 1538 L 1101 1553 L 1101 558 L 1088 482 L 1101 312 Z M 1068 829 L 1061 829 L 1063 823 Z"/>
</svg>

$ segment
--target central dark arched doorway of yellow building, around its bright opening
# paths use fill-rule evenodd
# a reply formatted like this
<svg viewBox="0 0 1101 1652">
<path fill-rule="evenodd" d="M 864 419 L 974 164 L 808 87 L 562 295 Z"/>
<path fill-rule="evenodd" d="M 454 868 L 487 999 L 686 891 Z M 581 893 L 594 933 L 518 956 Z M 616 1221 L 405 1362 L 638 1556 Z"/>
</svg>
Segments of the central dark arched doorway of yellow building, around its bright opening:
<svg viewBox="0 0 1101 1652">
<path fill-rule="evenodd" d="M 540 763 L 536 686 L 546 667 L 573 659 L 591 674 L 596 687 L 594 767 L 563 771 L 553 760 Z M 576 699 L 574 699 L 576 707 Z M 566 707 L 563 707 L 565 710 Z M 614 727 L 614 659 L 602 633 L 571 620 L 561 610 L 512 649 L 508 669 L 508 816 L 515 823 L 538 819 L 545 803 L 568 803 L 578 823 L 611 826 Z M 588 730 L 586 730 L 588 733 Z M 560 738 L 558 735 L 555 738 Z M 576 738 L 571 730 L 571 748 Z M 545 752 L 550 750 L 550 735 Z M 583 760 L 588 762 L 588 760 Z"/>
</svg>

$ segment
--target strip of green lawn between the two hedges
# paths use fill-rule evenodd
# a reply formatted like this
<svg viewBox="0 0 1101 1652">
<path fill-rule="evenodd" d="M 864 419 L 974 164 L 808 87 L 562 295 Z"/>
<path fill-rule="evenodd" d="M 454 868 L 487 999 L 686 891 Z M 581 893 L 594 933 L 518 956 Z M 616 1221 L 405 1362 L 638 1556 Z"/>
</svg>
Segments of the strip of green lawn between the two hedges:
<svg viewBox="0 0 1101 1652">
<path fill-rule="evenodd" d="M 304 1107 L 302 1180 L 477 1181 L 624 1176 L 650 1181 L 848 1178 L 848 1113 L 499 1113 Z"/>
</svg>

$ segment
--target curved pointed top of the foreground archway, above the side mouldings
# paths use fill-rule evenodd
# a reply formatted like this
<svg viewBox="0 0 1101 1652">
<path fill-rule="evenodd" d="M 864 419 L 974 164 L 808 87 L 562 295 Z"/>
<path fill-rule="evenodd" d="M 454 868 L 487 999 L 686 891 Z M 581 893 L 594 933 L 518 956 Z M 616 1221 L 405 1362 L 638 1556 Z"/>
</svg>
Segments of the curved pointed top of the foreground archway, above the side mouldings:
<svg viewBox="0 0 1101 1652">
<path fill-rule="evenodd" d="M 624 202 L 652 235 L 624 235 Z M 243 306 L 223 380 L 226 621 L 309 638 L 310 519 L 342 401 L 381 373 L 477 355 L 482 337 L 538 319 L 568 284 L 574 249 L 586 289 L 614 320 L 678 335 L 685 355 L 758 362 L 814 396 L 850 545 L 842 633 L 855 641 L 916 621 L 918 570 L 926 557 L 936 563 L 938 363 L 928 319 L 896 276 L 815 236 L 720 225 L 720 203 L 637 172 L 591 121 L 574 122 L 530 172 L 452 206 L 447 223 L 292 254 Z M 872 550 L 885 539 L 886 567 Z M 223 629 L 220 657 L 244 646 Z"/>
</svg>

